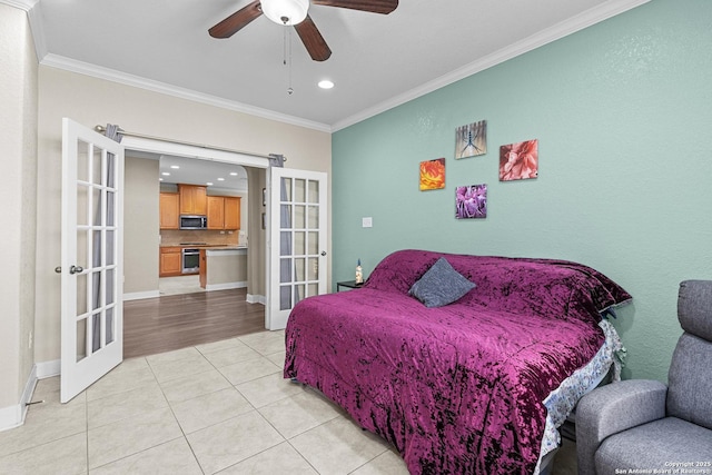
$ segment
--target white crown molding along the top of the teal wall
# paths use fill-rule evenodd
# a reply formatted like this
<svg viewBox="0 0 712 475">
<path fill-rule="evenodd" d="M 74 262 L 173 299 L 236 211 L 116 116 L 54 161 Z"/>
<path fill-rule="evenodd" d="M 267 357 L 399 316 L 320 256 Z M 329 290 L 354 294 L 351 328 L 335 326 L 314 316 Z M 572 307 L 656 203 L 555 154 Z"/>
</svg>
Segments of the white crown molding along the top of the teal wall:
<svg viewBox="0 0 712 475">
<path fill-rule="evenodd" d="M 566 21 L 562 21 L 561 23 L 547 28 L 546 30 L 532 34 L 522 41 L 517 41 L 516 43 L 495 51 L 492 55 L 487 55 L 477 61 L 465 65 L 462 68 L 448 72 L 447 75 L 441 76 L 439 78 L 418 86 L 417 88 L 413 88 L 402 95 L 395 96 L 374 107 L 364 109 L 344 120 L 339 120 L 332 125 L 332 131 L 335 132 L 337 130 L 345 129 L 354 123 L 358 123 L 370 117 L 377 116 L 378 113 L 385 112 L 394 107 L 406 103 L 413 99 L 417 99 L 476 72 L 484 71 L 485 69 L 492 68 L 493 66 L 500 65 L 520 55 L 524 55 L 525 52 L 556 41 L 568 34 L 575 33 L 576 31 L 581 31 L 595 23 L 600 23 L 601 21 L 607 20 L 609 18 L 615 17 L 616 14 L 623 13 L 635 7 L 640 7 L 649 1 L 650 0 L 610 0 L 599 7 L 594 7 L 572 17 Z"/>
</svg>

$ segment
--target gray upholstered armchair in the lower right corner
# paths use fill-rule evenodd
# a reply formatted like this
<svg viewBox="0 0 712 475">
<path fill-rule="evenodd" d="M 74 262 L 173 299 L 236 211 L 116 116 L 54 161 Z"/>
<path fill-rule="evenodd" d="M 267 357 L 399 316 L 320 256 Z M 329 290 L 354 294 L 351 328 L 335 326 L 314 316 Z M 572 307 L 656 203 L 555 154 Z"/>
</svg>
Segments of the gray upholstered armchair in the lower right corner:
<svg viewBox="0 0 712 475">
<path fill-rule="evenodd" d="M 578 402 L 580 475 L 635 473 L 631 468 L 712 473 L 712 280 L 680 284 L 678 319 L 684 333 L 668 386 L 623 380 Z"/>
</svg>

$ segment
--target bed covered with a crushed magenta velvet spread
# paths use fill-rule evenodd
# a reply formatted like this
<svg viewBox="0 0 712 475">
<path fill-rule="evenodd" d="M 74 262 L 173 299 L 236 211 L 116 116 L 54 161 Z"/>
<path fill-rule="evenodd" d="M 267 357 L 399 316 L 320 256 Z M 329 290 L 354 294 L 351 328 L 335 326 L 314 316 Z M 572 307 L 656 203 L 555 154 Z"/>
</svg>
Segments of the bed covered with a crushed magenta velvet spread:
<svg viewBox="0 0 712 475">
<path fill-rule="evenodd" d="M 428 306 L 411 291 L 442 264 L 474 288 Z M 463 284 L 436 277 L 436 296 Z M 536 474 L 576 400 L 620 369 L 602 315 L 629 300 L 576 263 L 399 250 L 362 288 L 294 307 L 284 376 L 390 442 L 412 474 Z"/>
</svg>

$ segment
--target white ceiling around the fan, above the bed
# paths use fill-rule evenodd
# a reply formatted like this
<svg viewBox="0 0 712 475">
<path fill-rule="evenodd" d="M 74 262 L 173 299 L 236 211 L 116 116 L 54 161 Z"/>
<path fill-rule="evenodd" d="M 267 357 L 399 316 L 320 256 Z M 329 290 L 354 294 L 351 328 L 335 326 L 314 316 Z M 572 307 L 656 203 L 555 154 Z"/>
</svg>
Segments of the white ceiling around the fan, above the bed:
<svg viewBox="0 0 712 475">
<path fill-rule="evenodd" d="M 43 65 L 334 131 L 647 0 L 400 0 L 387 16 L 312 6 L 333 53 L 313 61 L 287 27 L 291 72 L 285 27 L 266 17 L 208 34 L 249 0 L 10 1 L 33 4 Z M 336 87 L 319 89 L 325 78 Z"/>
</svg>

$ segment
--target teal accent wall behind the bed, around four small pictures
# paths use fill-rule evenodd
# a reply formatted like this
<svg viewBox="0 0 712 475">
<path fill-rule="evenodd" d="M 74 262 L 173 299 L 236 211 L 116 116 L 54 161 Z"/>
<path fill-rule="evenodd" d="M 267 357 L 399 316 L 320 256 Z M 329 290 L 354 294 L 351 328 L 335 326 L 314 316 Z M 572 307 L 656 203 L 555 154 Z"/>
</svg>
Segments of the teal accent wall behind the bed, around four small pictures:
<svg viewBox="0 0 712 475">
<path fill-rule="evenodd" d="M 456 160 L 455 128 L 483 119 L 487 154 Z M 335 132 L 334 281 L 403 248 L 586 264 L 634 297 L 623 377 L 664 382 L 679 283 L 712 279 L 711 137 L 712 2 L 653 0 Z M 500 146 L 528 139 L 538 178 L 498 181 Z M 445 189 L 419 191 L 439 157 Z M 487 218 L 455 219 L 477 184 Z"/>
</svg>

